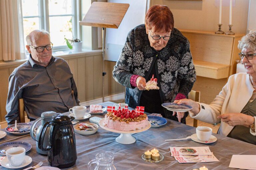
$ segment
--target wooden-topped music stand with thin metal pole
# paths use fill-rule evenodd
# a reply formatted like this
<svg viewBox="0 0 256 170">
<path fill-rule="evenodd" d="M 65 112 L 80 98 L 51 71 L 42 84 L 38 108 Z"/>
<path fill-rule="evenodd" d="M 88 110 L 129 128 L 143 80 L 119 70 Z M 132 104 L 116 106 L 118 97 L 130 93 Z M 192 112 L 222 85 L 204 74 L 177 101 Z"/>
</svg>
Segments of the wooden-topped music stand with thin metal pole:
<svg viewBox="0 0 256 170">
<path fill-rule="evenodd" d="M 130 5 L 122 3 L 93 2 L 80 25 L 102 27 L 102 101 L 104 102 L 104 61 L 105 61 L 105 28 L 118 28 Z"/>
</svg>

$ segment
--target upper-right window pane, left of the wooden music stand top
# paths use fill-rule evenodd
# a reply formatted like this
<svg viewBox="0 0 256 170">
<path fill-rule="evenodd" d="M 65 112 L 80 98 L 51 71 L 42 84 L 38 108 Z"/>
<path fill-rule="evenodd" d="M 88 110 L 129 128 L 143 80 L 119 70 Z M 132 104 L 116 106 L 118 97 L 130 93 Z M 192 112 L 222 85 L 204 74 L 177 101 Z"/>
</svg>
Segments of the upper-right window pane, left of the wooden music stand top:
<svg viewBox="0 0 256 170">
<path fill-rule="evenodd" d="M 72 0 L 49 0 L 49 15 L 72 14 Z"/>
</svg>

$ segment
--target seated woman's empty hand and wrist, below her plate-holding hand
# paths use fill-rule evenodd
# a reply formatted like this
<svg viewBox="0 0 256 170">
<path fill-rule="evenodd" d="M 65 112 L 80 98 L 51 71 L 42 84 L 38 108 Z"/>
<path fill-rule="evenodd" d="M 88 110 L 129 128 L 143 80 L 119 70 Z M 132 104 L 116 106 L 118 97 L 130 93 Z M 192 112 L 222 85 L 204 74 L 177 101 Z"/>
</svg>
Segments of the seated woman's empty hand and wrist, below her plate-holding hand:
<svg viewBox="0 0 256 170">
<path fill-rule="evenodd" d="M 249 127 L 254 122 L 254 118 L 243 113 L 227 113 L 218 116 L 218 119 L 221 119 L 222 122 L 225 122 L 229 126 L 242 125 Z"/>
</svg>

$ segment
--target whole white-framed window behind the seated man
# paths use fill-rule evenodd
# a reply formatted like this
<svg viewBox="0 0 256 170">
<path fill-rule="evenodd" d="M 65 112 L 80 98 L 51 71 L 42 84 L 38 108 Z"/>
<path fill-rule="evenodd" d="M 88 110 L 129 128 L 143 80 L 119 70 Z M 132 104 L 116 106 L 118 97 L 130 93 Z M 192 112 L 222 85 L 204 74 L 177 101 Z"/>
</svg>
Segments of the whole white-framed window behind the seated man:
<svg viewBox="0 0 256 170">
<path fill-rule="evenodd" d="M 67 39 L 80 38 L 79 0 L 22 0 L 24 40 L 33 30 L 50 33 L 53 50 L 67 48 Z M 72 30 L 72 32 L 70 31 Z M 72 35 L 73 33 L 73 35 Z"/>
</svg>

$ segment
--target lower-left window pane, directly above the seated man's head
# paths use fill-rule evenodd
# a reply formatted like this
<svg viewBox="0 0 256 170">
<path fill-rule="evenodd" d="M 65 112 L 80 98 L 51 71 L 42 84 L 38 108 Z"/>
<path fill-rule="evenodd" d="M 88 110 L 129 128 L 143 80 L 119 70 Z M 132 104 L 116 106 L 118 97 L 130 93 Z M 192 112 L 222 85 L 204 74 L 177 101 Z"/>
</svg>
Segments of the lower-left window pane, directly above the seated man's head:
<svg viewBox="0 0 256 170">
<path fill-rule="evenodd" d="M 39 30 L 39 18 L 23 18 L 24 41 L 26 36 L 33 30 Z"/>
</svg>

